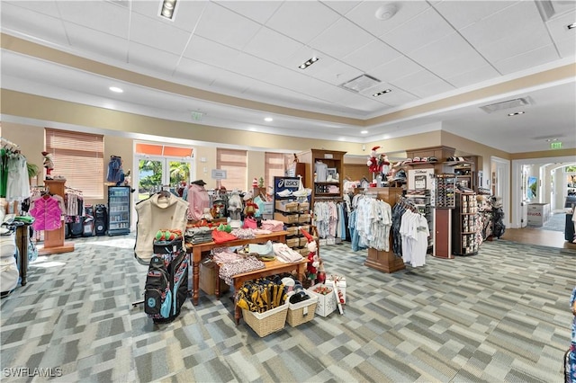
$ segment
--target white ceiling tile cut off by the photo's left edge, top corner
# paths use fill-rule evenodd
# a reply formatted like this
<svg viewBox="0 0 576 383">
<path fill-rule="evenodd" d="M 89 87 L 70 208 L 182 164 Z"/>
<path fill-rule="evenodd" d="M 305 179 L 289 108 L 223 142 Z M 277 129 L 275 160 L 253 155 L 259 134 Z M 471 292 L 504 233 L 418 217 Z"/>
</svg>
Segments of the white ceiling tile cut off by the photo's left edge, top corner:
<svg viewBox="0 0 576 383">
<path fill-rule="evenodd" d="M 3 31 L 17 31 L 29 36 L 41 36 L 45 41 L 68 47 L 64 26 L 56 18 L 9 3 L 2 3 L 2 13 L 0 14 L 0 25 Z"/>
</svg>

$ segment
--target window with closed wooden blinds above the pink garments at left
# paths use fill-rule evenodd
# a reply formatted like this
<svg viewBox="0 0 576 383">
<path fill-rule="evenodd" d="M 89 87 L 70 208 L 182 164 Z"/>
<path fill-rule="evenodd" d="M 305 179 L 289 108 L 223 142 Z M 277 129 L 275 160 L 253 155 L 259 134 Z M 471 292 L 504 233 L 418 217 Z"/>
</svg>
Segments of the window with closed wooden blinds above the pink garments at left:
<svg viewBox="0 0 576 383">
<path fill-rule="evenodd" d="M 76 131 L 45 129 L 46 151 L 52 155 L 52 176 L 62 175 L 66 185 L 85 198 L 103 199 L 103 136 Z"/>
</svg>

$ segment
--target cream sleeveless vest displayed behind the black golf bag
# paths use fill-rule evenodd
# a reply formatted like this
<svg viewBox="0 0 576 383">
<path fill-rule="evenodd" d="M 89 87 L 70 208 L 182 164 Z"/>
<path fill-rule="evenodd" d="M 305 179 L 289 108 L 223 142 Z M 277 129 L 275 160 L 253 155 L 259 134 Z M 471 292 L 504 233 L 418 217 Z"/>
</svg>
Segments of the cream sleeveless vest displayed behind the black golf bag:
<svg viewBox="0 0 576 383">
<path fill-rule="evenodd" d="M 134 253 L 140 263 L 149 264 L 154 253 L 154 240 L 160 229 L 186 230 L 188 203 L 173 194 L 161 192 L 148 200 L 140 200 L 136 206 L 136 244 Z"/>
</svg>

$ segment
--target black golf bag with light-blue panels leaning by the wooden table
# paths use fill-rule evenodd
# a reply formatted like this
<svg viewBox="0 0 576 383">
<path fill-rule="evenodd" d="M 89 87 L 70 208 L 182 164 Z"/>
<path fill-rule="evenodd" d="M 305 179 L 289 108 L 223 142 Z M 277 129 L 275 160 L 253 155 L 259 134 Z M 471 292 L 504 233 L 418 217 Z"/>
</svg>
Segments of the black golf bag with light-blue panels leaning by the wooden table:
<svg viewBox="0 0 576 383">
<path fill-rule="evenodd" d="M 188 295 L 188 256 L 183 238 L 155 241 L 148 266 L 144 312 L 155 323 L 170 323 L 180 315 Z"/>
</svg>

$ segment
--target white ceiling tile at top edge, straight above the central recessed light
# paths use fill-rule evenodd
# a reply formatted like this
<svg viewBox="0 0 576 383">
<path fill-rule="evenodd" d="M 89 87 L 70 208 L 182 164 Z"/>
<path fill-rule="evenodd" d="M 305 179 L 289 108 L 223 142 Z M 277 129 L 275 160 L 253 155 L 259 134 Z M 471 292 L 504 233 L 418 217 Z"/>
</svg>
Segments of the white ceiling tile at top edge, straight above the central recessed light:
<svg viewBox="0 0 576 383">
<path fill-rule="evenodd" d="M 327 29 L 340 16 L 325 4 L 286 1 L 266 22 L 266 26 L 304 44 Z"/>
</svg>

